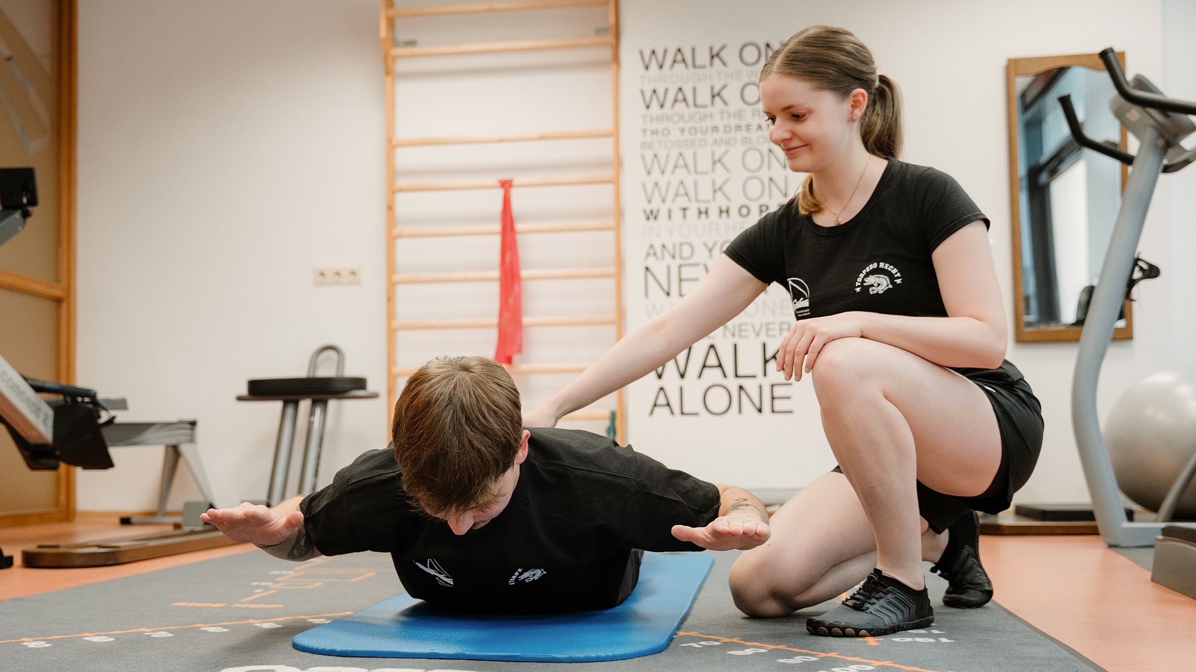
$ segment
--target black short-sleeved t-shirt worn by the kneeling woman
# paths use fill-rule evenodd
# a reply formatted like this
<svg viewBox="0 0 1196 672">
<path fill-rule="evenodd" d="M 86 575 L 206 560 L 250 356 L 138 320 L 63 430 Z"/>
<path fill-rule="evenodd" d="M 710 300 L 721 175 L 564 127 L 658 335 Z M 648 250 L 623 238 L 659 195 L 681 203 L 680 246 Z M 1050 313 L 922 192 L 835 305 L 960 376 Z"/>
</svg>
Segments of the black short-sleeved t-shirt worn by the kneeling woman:
<svg viewBox="0 0 1196 672">
<path fill-rule="evenodd" d="M 890 159 L 872 197 L 847 222 L 819 226 L 794 198 L 744 230 L 726 255 L 761 282 L 785 288 L 798 320 L 847 311 L 947 317 L 930 253 L 977 220 L 989 226 L 950 175 Z M 1008 362 L 997 371 L 1021 378 Z"/>
</svg>

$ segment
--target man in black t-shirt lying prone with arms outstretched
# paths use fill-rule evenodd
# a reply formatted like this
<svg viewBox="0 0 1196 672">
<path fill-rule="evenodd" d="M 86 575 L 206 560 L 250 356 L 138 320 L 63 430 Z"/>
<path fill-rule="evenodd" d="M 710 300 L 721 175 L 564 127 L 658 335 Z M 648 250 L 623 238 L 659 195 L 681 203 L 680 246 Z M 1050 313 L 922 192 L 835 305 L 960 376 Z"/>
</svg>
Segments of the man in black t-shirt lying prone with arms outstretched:
<svg viewBox="0 0 1196 672">
<path fill-rule="evenodd" d="M 201 518 L 276 557 L 389 552 L 411 597 L 440 609 L 551 613 L 622 603 L 643 551 L 751 549 L 764 507 L 598 434 L 523 428 L 519 390 L 486 358 L 408 379 L 392 445 L 273 508 Z"/>
</svg>

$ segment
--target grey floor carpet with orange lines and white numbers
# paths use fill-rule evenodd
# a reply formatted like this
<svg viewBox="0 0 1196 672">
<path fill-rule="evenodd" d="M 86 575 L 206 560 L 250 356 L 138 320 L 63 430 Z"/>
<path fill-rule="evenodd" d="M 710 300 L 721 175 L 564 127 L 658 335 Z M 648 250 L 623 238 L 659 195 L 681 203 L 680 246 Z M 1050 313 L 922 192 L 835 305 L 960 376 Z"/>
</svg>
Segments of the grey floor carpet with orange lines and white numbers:
<svg viewBox="0 0 1196 672">
<path fill-rule="evenodd" d="M 734 554 L 715 564 L 667 649 L 612 662 L 495 662 L 332 658 L 291 637 L 402 591 L 390 557 L 306 563 L 251 552 L 0 601 L 0 670 L 20 672 L 506 672 L 525 670 L 1088 671 L 1096 665 L 997 604 L 956 610 L 927 575 L 935 623 L 925 631 L 852 640 L 808 635 L 805 617 L 746 618 L 731 601 Z M 1000 594 L 1000 586 L 997 586 Z"/>
</svg>

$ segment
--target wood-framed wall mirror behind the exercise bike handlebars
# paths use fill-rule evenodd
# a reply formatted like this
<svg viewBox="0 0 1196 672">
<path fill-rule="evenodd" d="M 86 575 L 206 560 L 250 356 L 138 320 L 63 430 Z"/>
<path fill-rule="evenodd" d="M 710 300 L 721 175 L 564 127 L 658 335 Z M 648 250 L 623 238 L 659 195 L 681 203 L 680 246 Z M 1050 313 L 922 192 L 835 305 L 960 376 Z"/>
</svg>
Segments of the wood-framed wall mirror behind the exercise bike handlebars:
<svg viewBox="0 0 1196 672">
<path fill-rule="evenodd" d="M 1097 54 L 1009 59 L 1007 84 L 1015 337 L 1079 341 L 1128 170 L 1075 143 L 1058 97 L 1072 96 L 1088 138 L 1124 149 L 1113 85 Z M 1125 301 L 1113 338 L 1133 335 Z"/>
</svg>

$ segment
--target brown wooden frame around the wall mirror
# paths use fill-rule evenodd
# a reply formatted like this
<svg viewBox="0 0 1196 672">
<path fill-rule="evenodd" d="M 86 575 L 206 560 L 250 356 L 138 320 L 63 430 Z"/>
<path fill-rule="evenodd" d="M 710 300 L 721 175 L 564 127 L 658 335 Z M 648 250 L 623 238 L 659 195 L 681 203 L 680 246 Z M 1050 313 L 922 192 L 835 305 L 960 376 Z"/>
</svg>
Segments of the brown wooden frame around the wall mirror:
<svg viewBox="0 0 1196 672">
<path fill-rule="evenodd" d="M 1125 67 L 1125 53 L 1117 51 L 1117 60 Z M 1021 200 L 1020 184 L 1018 177 L 1018 78 L 1023 75 L 1038 74 L 1045 71 L 1064 68 L 1070 66 L 1084 66 L 1094 71 L 1104 72 L 1105 65 L 1098 54 L 1072 54 L 1064 56 L 1035 56 L 1029 59 L 1009 59 L 1006 66 L 1007 100 L 1006 114 L 1008 115 L 1009 133 L 1009 228 L 1013 232 L 1013 249 L 1011 258 L 1013 261 L 1013 332 L 1014 340 L 1019 343 L 1033 343 L 1044 341 L 1079 341 L 1084 331 L 1080 326 L 1044 326 L 1026 329 L 1025 310 L 1021 297 Z M 1121 148 L 1127 147 L 1125 127 L 1121 127 Z M 1112 159 L 1103 159 L 1112 160 Z M 1129 177 L 1129 166 L 1122 165 L 1122 191 L 1125 190 L 1125 181 Z M 1125 301 L 1125 326 L 1113 330 L 1115 341 L 1128 341 L 1134 337 L 1134 312 L 1133 303 Z"/>
</svg>

